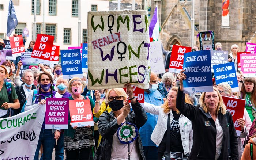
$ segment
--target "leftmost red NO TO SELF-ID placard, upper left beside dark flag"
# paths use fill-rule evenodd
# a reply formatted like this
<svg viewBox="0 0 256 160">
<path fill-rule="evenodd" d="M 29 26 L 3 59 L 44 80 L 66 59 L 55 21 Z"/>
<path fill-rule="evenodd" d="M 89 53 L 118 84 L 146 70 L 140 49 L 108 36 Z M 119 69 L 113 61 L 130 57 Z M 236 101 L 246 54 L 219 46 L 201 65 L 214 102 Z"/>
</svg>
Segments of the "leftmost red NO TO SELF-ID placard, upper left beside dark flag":
<svg viewBox="0 0 256 160">
<path fill-rule="evenodd" d="M 22 35 L 9 37 L 9 39 L 12 48 L 12 57 L 18 57 L 21 52 L 25 52 Z"/>
</svg>

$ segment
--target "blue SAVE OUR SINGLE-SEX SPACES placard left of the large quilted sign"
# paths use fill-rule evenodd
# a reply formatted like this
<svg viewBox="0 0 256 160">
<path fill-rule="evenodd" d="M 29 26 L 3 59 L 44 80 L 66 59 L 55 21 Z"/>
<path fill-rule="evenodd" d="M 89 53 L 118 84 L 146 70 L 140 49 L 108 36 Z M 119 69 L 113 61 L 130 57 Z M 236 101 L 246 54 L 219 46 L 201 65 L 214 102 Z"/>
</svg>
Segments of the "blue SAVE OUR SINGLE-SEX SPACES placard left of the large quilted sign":
<svg viewBox="0 0 256 160">
<path fill-rule="evenodd" d="M 83 78 L 80 49 L 61 50 L 63 79 Z"/>
</svg>

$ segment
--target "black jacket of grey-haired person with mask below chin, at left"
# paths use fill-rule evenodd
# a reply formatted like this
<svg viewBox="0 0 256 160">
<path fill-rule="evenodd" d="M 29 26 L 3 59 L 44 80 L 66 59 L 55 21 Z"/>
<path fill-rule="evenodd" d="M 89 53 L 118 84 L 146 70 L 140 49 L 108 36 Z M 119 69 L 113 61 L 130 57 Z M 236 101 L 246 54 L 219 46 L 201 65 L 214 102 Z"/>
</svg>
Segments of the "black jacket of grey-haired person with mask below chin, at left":
<svg viewBox="0 0 256 160">
<path fill-rule="evenodd" d="M 22 85 L 24 85 L 24 83 Z M 17 114 L 20 113 L 24 103 L 26 102 L 26 94 L 25 94 L 25 91 L 24 91 L 22 85 L 15 87 L 15 90 L 16 90 L 16 93 L 17 93 L 17 96 L 18 96 L 18 99 L 19 99 L 19 103 L 20 103 L 20 108 L 19 109 L 13 109 L 14 110 L 14 115 L 17 115 Z M 32 90 L 31 91 L 33 91 L 33 89 L 36 89 L 34 84 L 32 85 Z"/>
</svg>

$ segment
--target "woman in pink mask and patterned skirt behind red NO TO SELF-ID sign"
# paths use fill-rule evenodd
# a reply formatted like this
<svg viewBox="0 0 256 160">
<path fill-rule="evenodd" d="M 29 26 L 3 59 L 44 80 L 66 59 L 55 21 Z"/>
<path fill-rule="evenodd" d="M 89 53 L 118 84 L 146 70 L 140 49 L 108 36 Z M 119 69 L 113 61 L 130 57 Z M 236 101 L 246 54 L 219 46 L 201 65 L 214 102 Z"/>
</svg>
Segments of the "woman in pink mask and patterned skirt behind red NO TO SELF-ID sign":
<svg viewBox="0 0 256 160">
<path fill-rule="evenodd" d="M 83 100 L 89 99 L 91 110 L 93 110 L 95 103 L 91 97 L 83 96 L 83 84 L 79 77 L 72 78 L 68 83 L 68 91 L 72 96 L 69 100 Z M 70 106 L 69 106 L 70 107 Z M 94 122 L 98 118 L 93 117 Z M 92 148 L 95 146 L 93 129 L 91 126 L 86 127 L 71 127 L 70 112 L 68 113 L 68 129 L 64 131 L 64 149 L 66 149 L 67 159 L 90 159 Z"/>
</svg>

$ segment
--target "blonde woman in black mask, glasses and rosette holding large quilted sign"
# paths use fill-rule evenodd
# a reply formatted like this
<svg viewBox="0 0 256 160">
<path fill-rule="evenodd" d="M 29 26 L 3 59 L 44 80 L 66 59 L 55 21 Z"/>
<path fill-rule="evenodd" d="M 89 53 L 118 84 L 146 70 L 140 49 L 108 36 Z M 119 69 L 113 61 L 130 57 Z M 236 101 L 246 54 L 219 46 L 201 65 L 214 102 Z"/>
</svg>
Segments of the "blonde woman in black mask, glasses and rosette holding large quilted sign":
<svg viewBox="0 0 256 160">
<path fill-rule="evenodd" d="M 146 123 L 147 114 L 133 96 L 131 84 L 125 87 L 126 93 L 123 88 L 115 88 L 109 89 L 106 94 L 106 103 L 112 111 L 105 111 L 99 117 L 102 140 L 94 159 L 145 159 L 139 128 Z M 131 112 L 127 94 L 131 100 Z"/>
</svg>

